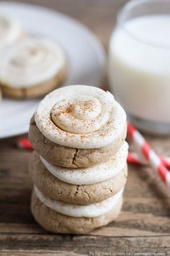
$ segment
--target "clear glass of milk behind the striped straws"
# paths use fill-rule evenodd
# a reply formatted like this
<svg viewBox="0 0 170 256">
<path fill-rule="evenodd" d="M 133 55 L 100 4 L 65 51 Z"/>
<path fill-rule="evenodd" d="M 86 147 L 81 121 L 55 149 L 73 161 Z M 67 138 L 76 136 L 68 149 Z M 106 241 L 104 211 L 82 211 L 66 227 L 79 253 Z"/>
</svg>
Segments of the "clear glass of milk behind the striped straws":
<svg viewBox="0 0 170 256">
<path fill-rule="evenodd" d="M 136 127 L 170 135 L 169 0 L 122 8 L 109 42 L 109 81 Z"/>
</svg>

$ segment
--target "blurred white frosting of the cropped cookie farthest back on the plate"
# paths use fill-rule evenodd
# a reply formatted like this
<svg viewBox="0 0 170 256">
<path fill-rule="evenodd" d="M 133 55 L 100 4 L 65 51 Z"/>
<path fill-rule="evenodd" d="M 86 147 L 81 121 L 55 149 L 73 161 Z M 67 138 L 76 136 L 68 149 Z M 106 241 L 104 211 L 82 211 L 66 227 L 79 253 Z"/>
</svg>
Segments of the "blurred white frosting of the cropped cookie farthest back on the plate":
<svg viewBox="0 0 170 256">
<path fill-rule="evenodd" d="M 9 46 L 22 35 L 22 27 L 10 17 L 0 14 L 0 48 Z"/>
</svg>

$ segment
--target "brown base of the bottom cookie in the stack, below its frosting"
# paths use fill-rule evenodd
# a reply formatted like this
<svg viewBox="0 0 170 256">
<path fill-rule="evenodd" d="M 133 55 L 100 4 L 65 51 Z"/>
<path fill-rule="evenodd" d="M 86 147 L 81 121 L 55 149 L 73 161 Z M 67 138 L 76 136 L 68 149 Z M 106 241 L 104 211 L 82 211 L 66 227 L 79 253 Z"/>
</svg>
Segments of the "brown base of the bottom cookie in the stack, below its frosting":
<svg viewBox="0 0 170 256">
<path fill-rule="evenodd" d="M 100 216 L 66 216 L 63 213 L 58 213 L 56 210 L 53 210 L 53 208 L 49 208 L 37 197 L 35 191 L 32 192 L 31 210 L 35 220 L 48 231 L 55 233 L 86 234 L 93 229 L 97 229 L 100 226 L 107 225 L 109 222 L 114 221 L 119 215 L 121 208 L 122 195 L 115 200 L 112 209 Z"/>
</svg>

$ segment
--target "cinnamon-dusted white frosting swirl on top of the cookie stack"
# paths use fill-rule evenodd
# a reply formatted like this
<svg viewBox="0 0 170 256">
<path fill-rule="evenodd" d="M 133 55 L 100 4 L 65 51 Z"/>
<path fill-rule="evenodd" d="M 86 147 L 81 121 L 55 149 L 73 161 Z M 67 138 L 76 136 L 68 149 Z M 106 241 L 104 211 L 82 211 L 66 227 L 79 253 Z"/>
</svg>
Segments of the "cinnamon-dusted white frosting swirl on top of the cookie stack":
<svg viewBox="0 0 170 256">
<path fill-rule="evenodd" d="M 125 129 L 126 114 L 113 95 L 87 85 L 49 93 L 37 107 L 35 122 L 48 140 L 71 148 L 102 148 Z"/>
</svg>

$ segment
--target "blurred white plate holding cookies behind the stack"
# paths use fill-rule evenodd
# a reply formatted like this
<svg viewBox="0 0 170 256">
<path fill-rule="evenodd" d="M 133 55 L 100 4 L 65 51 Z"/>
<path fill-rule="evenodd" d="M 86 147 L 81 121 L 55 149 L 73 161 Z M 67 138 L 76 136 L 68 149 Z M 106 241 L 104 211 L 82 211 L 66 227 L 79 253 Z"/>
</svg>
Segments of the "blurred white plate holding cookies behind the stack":
<svg viewBox="0 0 170 256">
<path fill-rule="evenodd" d="M 1 2 L 0 13 L 19 20 L 28 32 L 47 35 L 61 44 L 69 62 L 65 85 L 100 85 L 106 60 L 104 49 L 86 27 L 66 15 L 30 4 Z M 39 101 L 3 99 L 0 103 L 0 138 L 27 132 Z"/>
</svg>

